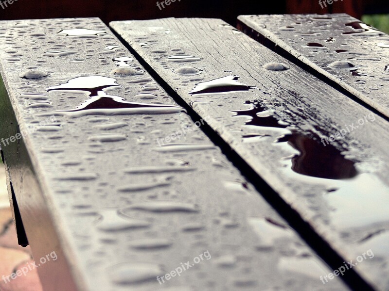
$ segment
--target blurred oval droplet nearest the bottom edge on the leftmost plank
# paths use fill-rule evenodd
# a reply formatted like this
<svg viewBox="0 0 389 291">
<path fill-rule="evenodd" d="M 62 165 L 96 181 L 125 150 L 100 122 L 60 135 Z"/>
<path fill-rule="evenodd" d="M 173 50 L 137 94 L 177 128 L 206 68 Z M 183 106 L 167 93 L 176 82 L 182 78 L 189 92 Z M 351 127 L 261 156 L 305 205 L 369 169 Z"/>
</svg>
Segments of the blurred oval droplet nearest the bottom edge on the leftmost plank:
<svg viewBox="0 0 389 291">
<path fill-rule="evenodd" d="M 162 267 L 154 263 L 122 263 L 108 270 L 111 281 L 120 285 L 154 282 L 164 274 Z"/>
</svg>

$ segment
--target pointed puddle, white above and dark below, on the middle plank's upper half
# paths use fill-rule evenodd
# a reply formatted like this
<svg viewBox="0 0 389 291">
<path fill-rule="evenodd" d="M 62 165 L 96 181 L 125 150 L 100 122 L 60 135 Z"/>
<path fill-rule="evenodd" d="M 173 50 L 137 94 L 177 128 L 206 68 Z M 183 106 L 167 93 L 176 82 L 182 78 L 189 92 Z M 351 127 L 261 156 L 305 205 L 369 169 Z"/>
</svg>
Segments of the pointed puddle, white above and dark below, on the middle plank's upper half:
<svg viewBox="0 0 389 291">
<path fill-rule="evenodd" d="M 189 94 L 191 95 L 218 95 L 233 92 L 242 92 L 254 89 L 253 86 L 248 86 L 238 82 L 238 76 L 226 76 L 211 81 L 201 82 L 196 84 Z"/>
</svg>

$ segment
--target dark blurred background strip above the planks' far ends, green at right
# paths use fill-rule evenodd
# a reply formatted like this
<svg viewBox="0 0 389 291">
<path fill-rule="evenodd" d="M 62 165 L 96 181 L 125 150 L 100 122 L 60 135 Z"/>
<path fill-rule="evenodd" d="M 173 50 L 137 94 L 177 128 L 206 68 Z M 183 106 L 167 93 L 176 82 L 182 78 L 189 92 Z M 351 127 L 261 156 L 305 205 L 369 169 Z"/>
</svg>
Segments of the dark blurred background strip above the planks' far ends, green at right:
<svg viewBox="0 0 389 291">
<path fill-rule="evenodd" d="M 0 7 L 0 20 L 97 16 L 107 24 L 112 20 L 173 16 L 222 18 L 235 25 L 241 14 L 347 13 L 389 32 L 389 0 L 334 0 L 323 8 L 318 0 L 176 0 L 162 9 L 157 0 L 14 1 Z"/>
</svg>

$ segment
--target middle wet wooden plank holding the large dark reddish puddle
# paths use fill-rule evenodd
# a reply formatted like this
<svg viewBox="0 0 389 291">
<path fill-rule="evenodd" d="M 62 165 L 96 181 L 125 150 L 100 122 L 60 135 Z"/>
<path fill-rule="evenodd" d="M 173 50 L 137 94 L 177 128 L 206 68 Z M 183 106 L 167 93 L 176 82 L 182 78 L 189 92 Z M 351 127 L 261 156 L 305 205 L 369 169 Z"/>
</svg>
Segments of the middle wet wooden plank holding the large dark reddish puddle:
<svg viewBox="0 0 389 291">
<path fill-rule="evenodd" d="M 375 250 L 355 270 L 388 289 L 388 121 L 221 20 L 110 25 L 345 260 Z"/>
</svg>

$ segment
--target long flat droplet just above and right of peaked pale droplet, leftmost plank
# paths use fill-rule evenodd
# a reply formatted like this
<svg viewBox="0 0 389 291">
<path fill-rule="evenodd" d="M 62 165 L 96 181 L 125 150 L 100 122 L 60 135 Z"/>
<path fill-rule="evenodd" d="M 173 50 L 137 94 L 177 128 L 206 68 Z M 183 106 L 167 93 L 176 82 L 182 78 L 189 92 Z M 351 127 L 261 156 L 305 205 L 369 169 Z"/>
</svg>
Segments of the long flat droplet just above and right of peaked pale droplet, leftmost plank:
<svg viewBox="0 0 389 291">
<path fill-rule="evenodd" d="M 192 203 L 165 200 L 150 200 L 141 203 L 135 203 L 129 208 L 123 210 L 124 213 L 133 210 L 144 210 L 150 212 L 199 212 L 200 208 Z"/>
</svg>

